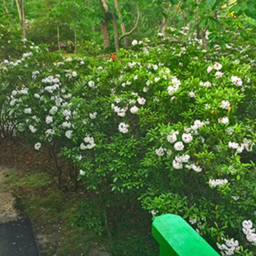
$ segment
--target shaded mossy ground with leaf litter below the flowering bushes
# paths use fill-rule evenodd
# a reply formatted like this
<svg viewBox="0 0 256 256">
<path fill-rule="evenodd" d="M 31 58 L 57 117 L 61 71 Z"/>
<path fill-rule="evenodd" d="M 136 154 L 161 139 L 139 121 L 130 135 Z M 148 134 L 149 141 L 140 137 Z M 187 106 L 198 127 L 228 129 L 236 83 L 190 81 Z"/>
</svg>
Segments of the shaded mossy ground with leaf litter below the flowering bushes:
<svg viewBox="0 0 256 256">
<path fill-rule="evenodd" d="M 0 189 L 5 193 L 2 198 L 6 198 L 2 207 L 5 210 L 1 210 L 3 204 L 0 203 L 0 218 L 9 221 L 19 217 L 20 212 L 28 216 L 40 256 L 158 254 L 150 231 L 151 216 L 141 210 L 136 198 L 124 202 L 117 197 L 115 204 L 107 208 L 106 228 L 103 202 L 93 204 L 93 197 L 98 197 L 98 193 L 87 192 L 81 183 L 75 190 L 68 179 L 65 162 L 60 162 L 64 182 L 59 189 L 54 159 L 47 148 L 42 149 L 38 153 L 31 144 L 20 139 L 0 138 Z M 101 222 L 95 219 L 95 213 Z M 102 235 L 99 235 L 95 229 L 101 228 Z"/>
</svg>

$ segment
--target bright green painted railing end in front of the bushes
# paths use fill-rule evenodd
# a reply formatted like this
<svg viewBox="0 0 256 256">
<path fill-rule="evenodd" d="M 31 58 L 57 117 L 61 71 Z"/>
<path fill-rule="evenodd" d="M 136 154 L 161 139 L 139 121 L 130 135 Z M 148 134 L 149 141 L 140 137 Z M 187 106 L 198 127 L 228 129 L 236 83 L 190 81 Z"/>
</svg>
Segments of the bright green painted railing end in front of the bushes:
<svg viewBox="0 0 256 256">
<path fill-rule="evenodd" d="M 180 216 L 155 217 L 152 234 L 160 244 L 160 256 L 219 256 L 219 254 Z"/>
</svg>

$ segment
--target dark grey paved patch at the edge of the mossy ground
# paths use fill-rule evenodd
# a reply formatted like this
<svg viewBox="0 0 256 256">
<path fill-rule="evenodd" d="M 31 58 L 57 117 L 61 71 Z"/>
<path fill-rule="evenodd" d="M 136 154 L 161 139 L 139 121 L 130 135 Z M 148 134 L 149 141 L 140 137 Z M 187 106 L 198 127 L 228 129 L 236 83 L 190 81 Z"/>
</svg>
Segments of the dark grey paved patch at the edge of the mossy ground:
<svg viewBox="0 0 256 256">
<path fill-rule="evenodd" d="M 38 256 L 28 218 L 0 224 L 0 256 Z"/>
</svg>

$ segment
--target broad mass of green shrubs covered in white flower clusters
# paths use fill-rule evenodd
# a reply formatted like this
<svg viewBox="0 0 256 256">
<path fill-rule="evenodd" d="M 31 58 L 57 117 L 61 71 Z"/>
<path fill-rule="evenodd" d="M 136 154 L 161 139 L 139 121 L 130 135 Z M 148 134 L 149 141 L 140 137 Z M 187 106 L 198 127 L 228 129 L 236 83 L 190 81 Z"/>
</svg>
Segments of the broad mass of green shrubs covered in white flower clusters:
<svg viewBox="0 0 256 256">
<path fill-rule="evenodd" d="M 133 42 L 97 64 L 37 47 L 3 58 L 1 133 L 11 125 L 35 150 L 61 146 L 87 189 L 106 183 L 134 192 L 153 216 L 180 214 L 223 255 L 253 250 L 251 46 L 218 57 L 189 44 Z"/>
</svg>

